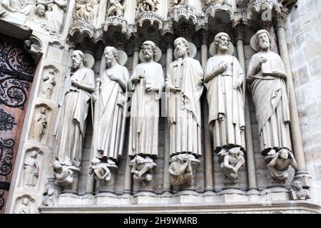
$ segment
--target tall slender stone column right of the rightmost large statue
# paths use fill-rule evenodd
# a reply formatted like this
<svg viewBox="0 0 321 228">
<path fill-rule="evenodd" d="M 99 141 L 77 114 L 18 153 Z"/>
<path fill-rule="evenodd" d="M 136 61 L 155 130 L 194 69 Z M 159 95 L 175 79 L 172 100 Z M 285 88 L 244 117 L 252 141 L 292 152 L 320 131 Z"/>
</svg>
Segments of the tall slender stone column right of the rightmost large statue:
<svg viewBox="0 0 321 228">
<path fill-rule="evenodd" d="M 295 155 L 295 159 L 297 160 L 297 172 L 295 174 L 295 178 L 302 179 L 302 183 L 304 187 L 311 186 L 310 175 L 308 175 L 307 167 L 305 165 L 305 153 L 303 150 L 302 143 L 302 135 L 300 129 L 299 115 L 297 113 L 297 102 L 295 100 L 295 91 L 292 81 L 292 73 L 291 73 L 291 65 L 290 65 L 290 56 L 287 51 L 287 40 L 285 36 L 285 20 L 286 18 L 282 15 L 277 18 L 277 41 L 279 44 L 280 56 L 285 65 L 285 70 L 287 73 L 287 91 L 289 96 L 290 103 L 290 129 L 292 135 L 292 145 L 293 145 L 293 153 Z"/>
</svg>

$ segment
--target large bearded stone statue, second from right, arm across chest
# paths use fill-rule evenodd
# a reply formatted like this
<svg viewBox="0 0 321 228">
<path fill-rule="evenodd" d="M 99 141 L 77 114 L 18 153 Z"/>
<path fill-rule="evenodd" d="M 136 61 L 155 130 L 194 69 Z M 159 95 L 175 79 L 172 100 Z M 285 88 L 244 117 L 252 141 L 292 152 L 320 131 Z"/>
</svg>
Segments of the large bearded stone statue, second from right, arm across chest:
<svg viewBox="0 0 321 228">
<path fill-rule="evenodd" d="M 238 59 L 231 56 L 230 36 L 218 33 L 213 53 L 205 69 L 204 83 L 208 90 L 208 128 L 213 149 L 225 154 L 232 147 L 245 150 L 244 98 L 241 85 L 245 74 Z M 231 48 L 230 48 L 231 49 Z"/>
</svg>

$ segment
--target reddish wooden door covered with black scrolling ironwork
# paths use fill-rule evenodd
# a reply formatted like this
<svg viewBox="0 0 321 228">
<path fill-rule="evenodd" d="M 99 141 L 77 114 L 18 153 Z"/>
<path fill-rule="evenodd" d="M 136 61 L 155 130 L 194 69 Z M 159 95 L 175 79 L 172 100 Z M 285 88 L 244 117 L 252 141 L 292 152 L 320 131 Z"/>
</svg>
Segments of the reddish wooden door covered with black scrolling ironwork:
<svg viewBox="0 0 321 228">
<path fill-rule="evenodd" d="M 0 34 L 0 213 L 6 204 L 35 68 L 23 41 Z"/>
</svg>

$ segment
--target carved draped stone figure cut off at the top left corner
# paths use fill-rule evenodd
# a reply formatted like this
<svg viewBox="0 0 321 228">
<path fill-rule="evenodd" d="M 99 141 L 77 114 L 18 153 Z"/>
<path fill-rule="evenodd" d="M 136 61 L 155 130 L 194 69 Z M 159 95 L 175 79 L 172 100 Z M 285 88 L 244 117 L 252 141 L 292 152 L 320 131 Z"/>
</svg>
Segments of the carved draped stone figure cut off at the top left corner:
<svg viewBox="0 0 321 228">
<path fill-rule="evenodd" d="M 34 16 L 35 3 L 33 0 L 2 0 L 0 6 L 11 13 Z"/>
</svg>

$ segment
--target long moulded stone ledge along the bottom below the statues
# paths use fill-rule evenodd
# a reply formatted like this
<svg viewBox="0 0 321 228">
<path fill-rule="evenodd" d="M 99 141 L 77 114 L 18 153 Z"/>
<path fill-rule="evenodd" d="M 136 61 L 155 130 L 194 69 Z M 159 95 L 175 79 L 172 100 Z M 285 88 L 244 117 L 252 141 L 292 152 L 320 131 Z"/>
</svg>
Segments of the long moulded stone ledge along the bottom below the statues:
<svg viewBox="0 0 321 228">
<path fill-rule="evenodd" d="M 211 203 L 211 204 L 133 204 L 126 206 L 51 206 L 39 207 L 41 214 L 56 213 L 240 213 L 240 214 L 318 214 L 320 213 L 320 204 L 306 201 L 278 201 L 272 202 L 269 206 L 263 206 L 260 203 Z"/>
</svg>

